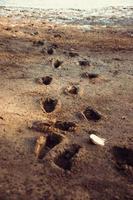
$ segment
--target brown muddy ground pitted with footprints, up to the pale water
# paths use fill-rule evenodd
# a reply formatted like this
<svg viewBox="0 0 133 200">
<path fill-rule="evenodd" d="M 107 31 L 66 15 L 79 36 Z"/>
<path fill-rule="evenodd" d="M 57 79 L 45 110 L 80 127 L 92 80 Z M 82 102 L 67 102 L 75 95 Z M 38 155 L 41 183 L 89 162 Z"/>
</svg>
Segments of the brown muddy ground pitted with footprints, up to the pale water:
<svg viewBox="0 0 133 200">
<path fill-rule="evenodd" d="M 128 29 L 0 17 L 0 200 L 132 199 Z"/>
</svg>

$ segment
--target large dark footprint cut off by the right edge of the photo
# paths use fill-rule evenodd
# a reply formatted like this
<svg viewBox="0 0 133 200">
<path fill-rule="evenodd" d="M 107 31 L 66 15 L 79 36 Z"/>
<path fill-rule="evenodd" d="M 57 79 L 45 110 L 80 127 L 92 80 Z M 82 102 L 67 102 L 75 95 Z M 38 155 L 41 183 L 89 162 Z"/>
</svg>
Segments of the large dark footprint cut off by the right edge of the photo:
<svg viewBox="0 0 133 200">
<path fill-rule="evenodd" d="M 133 149 L 114 146 L 112 153 L 115 158 L 115 167 L 122 174 L 129 178 L 133 176 Z"/>
</svg>

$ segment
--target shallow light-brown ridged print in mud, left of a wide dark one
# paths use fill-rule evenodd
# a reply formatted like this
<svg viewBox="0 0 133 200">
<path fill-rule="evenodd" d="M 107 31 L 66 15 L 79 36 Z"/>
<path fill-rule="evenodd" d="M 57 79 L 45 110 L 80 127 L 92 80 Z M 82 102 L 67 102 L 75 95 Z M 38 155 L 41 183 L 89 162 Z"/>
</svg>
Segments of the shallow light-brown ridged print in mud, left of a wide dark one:
<svg viewBox="0 0 133 200">
<path fill-rule="evenodd" d="M 47 132 L 49 131 L 50 127 L 52 126 L 52 122 L 43 122 L 43 121 L 34 121 L 31 125 L 31 129 L 37 132 Z"/>
</svg>

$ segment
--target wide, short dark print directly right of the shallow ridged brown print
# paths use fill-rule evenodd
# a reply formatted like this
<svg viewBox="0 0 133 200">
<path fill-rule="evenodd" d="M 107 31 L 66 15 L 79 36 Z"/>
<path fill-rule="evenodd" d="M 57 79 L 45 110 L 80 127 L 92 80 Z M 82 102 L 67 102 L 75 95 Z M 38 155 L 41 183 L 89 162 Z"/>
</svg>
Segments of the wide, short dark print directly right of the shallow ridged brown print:
<svg viewBox="0 0 133 200">
<path fill-rule="evenodd" d="M 76 129 L 76 124 L 74 122 L 62 122 L 62 121 L 57 121 L 55 123 L 55 128 L 58 128 L 62 131 L 75 131 Z"/>
</svg>

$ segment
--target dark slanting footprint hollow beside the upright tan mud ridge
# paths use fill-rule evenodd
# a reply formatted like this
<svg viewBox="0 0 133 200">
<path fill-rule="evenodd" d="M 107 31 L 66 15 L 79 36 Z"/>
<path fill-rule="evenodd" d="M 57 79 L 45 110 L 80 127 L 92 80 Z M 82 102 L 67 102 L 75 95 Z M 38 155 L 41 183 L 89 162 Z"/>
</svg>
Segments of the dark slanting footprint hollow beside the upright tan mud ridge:
<svg viewBox="0 0 133 200">
<path fill-rule="evenodd" d="M 51 133 L 46 137 L 46 142 L 44 147 L 41 149 L 38 155 L 38 159 L 43 159 L 47 153 L 52 150 L 55 146 L 60 144 L 63 140 L 61 135 Z"/>
</svg>

